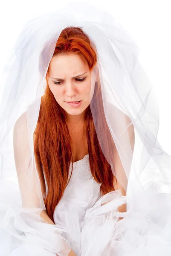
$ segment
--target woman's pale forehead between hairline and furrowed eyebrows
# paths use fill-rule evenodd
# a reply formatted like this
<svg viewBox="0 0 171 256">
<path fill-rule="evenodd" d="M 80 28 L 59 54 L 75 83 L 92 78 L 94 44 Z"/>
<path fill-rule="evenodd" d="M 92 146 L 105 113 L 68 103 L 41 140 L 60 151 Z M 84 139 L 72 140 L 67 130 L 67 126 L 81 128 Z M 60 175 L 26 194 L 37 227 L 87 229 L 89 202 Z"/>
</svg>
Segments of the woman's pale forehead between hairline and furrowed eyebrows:
<svg viewBox="0 0 171 256">
<path fill-rule="evenodd" d="M 82 54 L 54 55 L 49 63 L 52 77 L 77 76 L 88 70 L 88 63 Z"/>
</svg>

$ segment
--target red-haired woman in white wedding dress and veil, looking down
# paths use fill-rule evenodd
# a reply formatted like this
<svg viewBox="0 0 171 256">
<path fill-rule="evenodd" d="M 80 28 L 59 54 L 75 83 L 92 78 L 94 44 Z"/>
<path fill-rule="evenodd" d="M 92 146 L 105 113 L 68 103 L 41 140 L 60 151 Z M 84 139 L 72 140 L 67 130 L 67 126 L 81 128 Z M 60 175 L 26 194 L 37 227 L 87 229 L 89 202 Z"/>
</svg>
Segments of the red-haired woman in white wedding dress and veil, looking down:
<svg viewBox="0 0 171 256">
<path fill-rule="evenodd" d="M 71 7 L 31 20 L 16 44 L 0 145 L 4 157 L 14 153 L 18 184 L 3 178 L 1 251 L 169 255 L 171 161 L 156 142 L 136 44 L 109 14 L 98 9 L 105 23 L 85 22 L 86 9 L 81 21 Z"/>
</svg>

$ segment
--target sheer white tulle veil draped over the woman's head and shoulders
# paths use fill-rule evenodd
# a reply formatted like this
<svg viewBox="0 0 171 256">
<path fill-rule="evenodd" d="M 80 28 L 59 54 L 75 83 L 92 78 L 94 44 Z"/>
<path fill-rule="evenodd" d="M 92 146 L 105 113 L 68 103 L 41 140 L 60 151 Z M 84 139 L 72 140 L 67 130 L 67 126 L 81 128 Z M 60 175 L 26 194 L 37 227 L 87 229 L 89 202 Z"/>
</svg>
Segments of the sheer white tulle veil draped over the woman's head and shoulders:
<svg viewBox="0 0 171 256">
<path fill-rule="evenodd" d="M 142 251 L 142 245 L 150 248 L 157 244 L 155 255 L 170 255 L 171 157 L 157 141 L 159 111 L 153 88 L 139 64 L 139 48 L 131 35 L 109 13 L 88 3 L 70 3 L 28 20 L 5 67 L 7 78 L 0 104 L 0 255 L 66 256 L 71 249 L 64 236 L 67 228 L 48 224 L 41 217 L 53 177 L 49 175 L 46 180 L 46 175 L 38 172 L 33 144 L 43 113 L 41 101 L 47 89 L 49 62 L 61 32 L 71 26 L 84 32 L 96 53 L 93 61 L 88 60 L 92 71 L 90 111 L 96 130 L 94 140 L 97 138 L 101 148 L 99 159 L 107 160 L 126 192 L 122 198 L 127 212 L 118 221 L 125 226 L 119 232 L 123 229 L 124 237 L 126 230 L 146 220 L 144 230 L 139 231 L 136 254 L 133 250 L 129 254 L 129 246 L 125 250 L 129 255 L 153 255 L 150 250 Z M 62 164 L 67 154 L 66 148 L 60 150 Z M 89 148 L 90 166 L 94 156 Z M 51 167 L 49 164 L 49 173 Z M 102 175 L 103 168 L 99 172 Z M 46 191 L 41 187 L 43 177 Z M 125 235 L 126 239 L 129 244 L 134 238 Z M 128 255 L 119 250 L 119 241 L 118 254 L 104 255 Z M 79 255 L 96 255 L 92 253 L 82 251 Z"/>
</svg>

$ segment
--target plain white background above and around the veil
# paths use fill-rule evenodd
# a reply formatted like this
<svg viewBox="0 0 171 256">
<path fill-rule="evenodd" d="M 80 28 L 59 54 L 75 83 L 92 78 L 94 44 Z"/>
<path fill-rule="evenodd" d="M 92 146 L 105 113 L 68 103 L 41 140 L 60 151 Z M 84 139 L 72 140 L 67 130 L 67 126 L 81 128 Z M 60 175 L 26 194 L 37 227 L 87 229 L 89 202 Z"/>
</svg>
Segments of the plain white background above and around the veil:
<svg viewBox="0 0 171 256">
<path fill-rule="evenodd" d="M 4 84 L 3 66 L 26 20 L 46 11 L 51 12 L 61 8 L 68 2 L 71 1 L 3 0 L 3 4 L 0 5 L 1 89 Z M 133 35 L 141 49 L 139 61 L 154 87 L 159 105 L 158 141 L 171 155 L 171 1 L 87 0 L 87 2 L 97 4 L 110 12 Z"/>
</svg>

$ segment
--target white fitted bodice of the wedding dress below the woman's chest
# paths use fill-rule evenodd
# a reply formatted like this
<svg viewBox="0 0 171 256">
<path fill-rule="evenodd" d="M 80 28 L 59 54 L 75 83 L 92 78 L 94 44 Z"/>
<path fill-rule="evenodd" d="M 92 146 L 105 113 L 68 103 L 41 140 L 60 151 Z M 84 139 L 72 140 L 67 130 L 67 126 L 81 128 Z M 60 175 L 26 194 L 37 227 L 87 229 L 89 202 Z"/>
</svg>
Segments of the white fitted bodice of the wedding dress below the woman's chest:
<svg viewBox="0 0 171 256">
<path fill-rule="evenodd" d="M 70 162 L 68 180 L 71 170 L 72 162 Z M 81 222 L 86 210 L 91 208 L 100 196 L 100 184 L 94 180 L 91 174 L 89 154 L 87 154 L 83 159 L 73 162 L 71 179 L 53 214 L 55 224 L 60 224 L 62 221 L 64 225 L 66 219 L 67 223 L 68 221 L 72 223 L 75 216 Z"/>
</svg>

